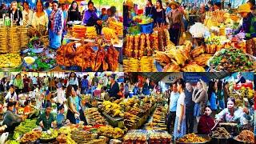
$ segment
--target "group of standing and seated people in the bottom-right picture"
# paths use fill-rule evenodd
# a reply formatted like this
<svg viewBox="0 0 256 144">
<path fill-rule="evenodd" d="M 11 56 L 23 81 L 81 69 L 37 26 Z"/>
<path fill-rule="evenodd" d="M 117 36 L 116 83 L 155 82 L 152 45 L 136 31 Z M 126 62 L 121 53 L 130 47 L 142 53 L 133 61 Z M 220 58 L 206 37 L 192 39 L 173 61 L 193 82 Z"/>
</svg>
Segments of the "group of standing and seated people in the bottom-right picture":
<svg viewBox="0 0 256 144">
<path fill-rule="evenodd" d="M 235 99 L 229 98 L 228 85 L 228 82 L 211 80 L 207 89 L 202 80 L 195 87 L 182 79 L 174 82 L 166 90 L 167 129 L 174 139 L 195 132 L 210 134 L 219 122 L 234 122 L 242 129 L 253 128 L 254 103 L 247 101 L 243 108 L 238 108 Z M 194 130 L 195 123 L 197 130 Z"/>
</svg>

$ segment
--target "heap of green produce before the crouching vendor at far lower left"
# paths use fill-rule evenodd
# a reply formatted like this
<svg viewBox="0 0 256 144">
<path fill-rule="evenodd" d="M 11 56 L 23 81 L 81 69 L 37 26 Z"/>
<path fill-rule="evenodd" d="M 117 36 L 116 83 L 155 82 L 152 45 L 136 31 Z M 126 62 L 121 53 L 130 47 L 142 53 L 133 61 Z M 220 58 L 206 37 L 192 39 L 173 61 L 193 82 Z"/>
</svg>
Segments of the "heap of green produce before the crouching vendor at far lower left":
<svg viewBox="0 0 256 144">
<path fill-rule="evenodd" d="M 26 119 L 24 122 L 21 122 L 17 127 L 15 127 L 13 138 L 17 139 L 22 136 L 22 134 L 26 134 L 33 130 L 35 127 L 37 127 L 36 122 L 36 119 Z"/>
</svg>

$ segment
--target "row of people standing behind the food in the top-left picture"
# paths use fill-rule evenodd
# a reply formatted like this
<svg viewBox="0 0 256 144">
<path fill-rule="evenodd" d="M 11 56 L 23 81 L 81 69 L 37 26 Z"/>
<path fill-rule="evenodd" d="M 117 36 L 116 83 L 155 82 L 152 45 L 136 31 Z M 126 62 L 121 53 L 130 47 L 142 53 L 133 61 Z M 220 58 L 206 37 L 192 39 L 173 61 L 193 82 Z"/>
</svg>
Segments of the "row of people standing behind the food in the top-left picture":
<svg viewBox="0 0 256 144">
<path fill-rule="evenodd" d="M 7 17 L 13 19 L 14 25 L 33 26 L 37 30 L 45 28 L 46 33 L 49 34 L 50 47 L 54 49 L 61 46 L 62 39 L 67 33 L 67 22 L 82 21 L 82 24 L 86 26 L 96 26 L 98 34 L 102 34 L 103 22 L 109 19 L 118 21 L 115 6 L 111 6 L 108 10 L 102 8 L 101 15 L 97 15 L 97 9 L 92 1 L 87 3 L 88 8 L 82 14 L 78 9 L 78 2 L 72 2 L 68 10 L 66 10 L 66 5 L 66 3 L 58 1 L 44 4 L 38 0 L 35 7 L 31 8 L 29 2 L 25 1 L 22 6 L 18 6 L 18 2 L 13 1 L 10 7 L 2 4 L 0 18 L 2 18 L 2 14 L 6 14 Z"/>
</svg>

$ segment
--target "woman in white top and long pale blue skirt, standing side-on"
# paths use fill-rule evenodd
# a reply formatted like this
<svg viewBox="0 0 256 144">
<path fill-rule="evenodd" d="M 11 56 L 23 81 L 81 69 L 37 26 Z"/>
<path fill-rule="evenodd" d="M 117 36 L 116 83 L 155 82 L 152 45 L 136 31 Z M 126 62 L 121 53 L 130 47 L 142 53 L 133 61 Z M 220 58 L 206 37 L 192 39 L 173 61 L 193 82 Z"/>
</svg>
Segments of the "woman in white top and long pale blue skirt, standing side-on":
<svg viewBox="0 0 256 144">
<path fill-rule="evenodd" d="M 174 124 L 174 140 L 178 138 L 182 138 L 186 134 L 186 104 L 185 104 L 185 82 L 182 78 L 178 79 L 177 88 L 178 88 L 178 102 L 177 102 L 177 110 L 176 110 L 176 118 Z"/>
</svg>

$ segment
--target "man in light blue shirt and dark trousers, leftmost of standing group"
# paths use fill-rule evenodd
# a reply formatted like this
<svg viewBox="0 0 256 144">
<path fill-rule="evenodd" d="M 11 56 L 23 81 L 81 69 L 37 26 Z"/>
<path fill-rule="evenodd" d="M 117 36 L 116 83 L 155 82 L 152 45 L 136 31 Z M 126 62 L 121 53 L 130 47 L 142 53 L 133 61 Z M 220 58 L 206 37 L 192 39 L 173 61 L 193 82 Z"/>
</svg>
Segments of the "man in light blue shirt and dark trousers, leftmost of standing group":
<svg viewBox="0 0 256 144">
<path fill-rule="evenodd" d="M 167 122 L 167 130 L 171 134 L 174 131 L 174 122 L 176 118 L 176 110 L 177 110 L 177 102 L 178 102 L 178 89 L 177 84 L 173 84 L 173 91 L 170 93 L 170 98 L 168 100 L 168 122 Z"/>
</svg>

